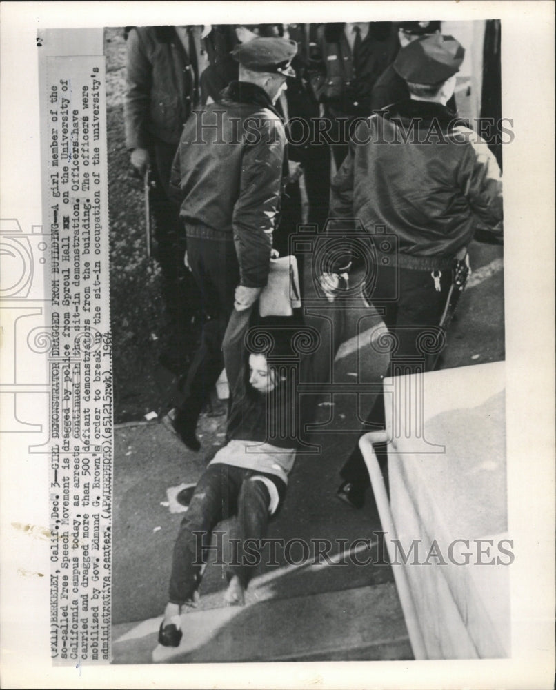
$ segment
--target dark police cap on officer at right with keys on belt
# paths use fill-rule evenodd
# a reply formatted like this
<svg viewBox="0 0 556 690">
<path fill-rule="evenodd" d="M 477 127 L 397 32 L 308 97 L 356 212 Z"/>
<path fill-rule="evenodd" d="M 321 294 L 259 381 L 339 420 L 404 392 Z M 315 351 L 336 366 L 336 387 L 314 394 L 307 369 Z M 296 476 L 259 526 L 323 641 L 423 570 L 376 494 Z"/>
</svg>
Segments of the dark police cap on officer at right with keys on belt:
<svg viewBox="0 0 556 690">
<path fill-rule="evenodd" d="M 401 48 L 394 69 L 402 79 L 416 84 L 441 84 L 450 79 L 464 61 L 465 50 L 452 36 L 433 34 Z"/>
</svg>

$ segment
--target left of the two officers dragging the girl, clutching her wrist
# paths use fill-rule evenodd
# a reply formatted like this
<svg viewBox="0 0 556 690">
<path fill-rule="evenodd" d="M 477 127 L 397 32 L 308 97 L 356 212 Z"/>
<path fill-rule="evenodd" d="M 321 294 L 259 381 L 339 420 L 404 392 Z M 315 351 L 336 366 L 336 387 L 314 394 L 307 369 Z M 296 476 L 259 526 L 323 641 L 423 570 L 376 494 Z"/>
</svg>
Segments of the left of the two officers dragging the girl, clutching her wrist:
<svg viewBox="0 0 556 690">
<path fill-rule="evenodd" d="M 274 103 L 295 75 L 297 44 L 255 38 L 232 51 L 239 81 L 183 128 L 171 186 L 181 201 L 188 264 L 210 320 L 169 421 L 199 450 L 197 419 L 223 367 L 232 309 L 249 308 L 266 284 L 284 174 L 286 136 Z M 286 174 L 287 174 L 287 161 Z"/>
</svg>

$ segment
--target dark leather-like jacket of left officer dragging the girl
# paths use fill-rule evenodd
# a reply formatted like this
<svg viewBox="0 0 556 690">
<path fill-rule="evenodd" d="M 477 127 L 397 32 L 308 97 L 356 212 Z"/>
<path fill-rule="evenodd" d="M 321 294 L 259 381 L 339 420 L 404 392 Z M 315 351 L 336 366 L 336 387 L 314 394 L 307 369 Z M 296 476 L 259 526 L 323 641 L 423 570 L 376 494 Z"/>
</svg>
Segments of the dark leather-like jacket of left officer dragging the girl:
<svg viewBox="0 0 556 690">
<path fill-rule="evenodd" d="M 233 81 L 183 128 L 170 190 L 186 232 L 234 240 L 241 285 L 266 285 L 281 192 L 286 135 L 266 92 Z M 206 234 L 203 236 L 207 236 Z"/>
</svg>

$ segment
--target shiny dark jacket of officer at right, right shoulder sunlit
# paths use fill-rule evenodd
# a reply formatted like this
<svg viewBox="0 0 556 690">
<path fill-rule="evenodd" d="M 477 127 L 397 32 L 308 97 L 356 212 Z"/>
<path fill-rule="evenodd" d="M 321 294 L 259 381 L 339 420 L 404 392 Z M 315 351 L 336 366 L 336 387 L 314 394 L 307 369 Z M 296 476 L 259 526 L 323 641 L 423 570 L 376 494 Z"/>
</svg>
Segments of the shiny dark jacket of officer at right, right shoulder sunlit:
<svg viewBox="0 0 556 690">
<path fill-rule="evenodd" d="M 400 101 L 360 121 L 332 180 L 330 217 L 397 237 L 399 266 L 433 270 L 475 230 L 502 235 L 502 179 L 486 143 L 439 103 Z"/>
</svg>

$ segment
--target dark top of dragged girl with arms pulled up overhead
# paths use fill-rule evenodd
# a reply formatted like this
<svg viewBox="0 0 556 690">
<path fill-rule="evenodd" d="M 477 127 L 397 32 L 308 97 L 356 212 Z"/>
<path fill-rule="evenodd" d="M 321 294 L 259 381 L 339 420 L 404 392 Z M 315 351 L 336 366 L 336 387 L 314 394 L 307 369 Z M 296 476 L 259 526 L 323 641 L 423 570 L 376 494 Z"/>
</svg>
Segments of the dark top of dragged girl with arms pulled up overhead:
<svg viewBox="0 0 556 690">
<path fill-rule="evenodd" d="M 228 441 L 260 441 L 295 449 L 308 443 L 306 425 L 314 421 L 320 396 L 332 390 L 332 362 L 339 346 L 358 333 L 360 319 L 368 316 L 368 304 L 361 295 L 351 299 L 348 313 L 328 308 L 326 299 L 324 305 L 315 315 L 306 316 L 305 324 L 281 319 L 279 326 L 253 324 L 249 310 L 232 312 L 222 344 L 232 400 Z M 270 321 L 272 317 L 265 324 Z M 248 349 L 268 343 L 268 333 L 274 342 L 268 362 L 284 380 L 274 391 L 261 394 L 248 382 Z"/>
</svg>

